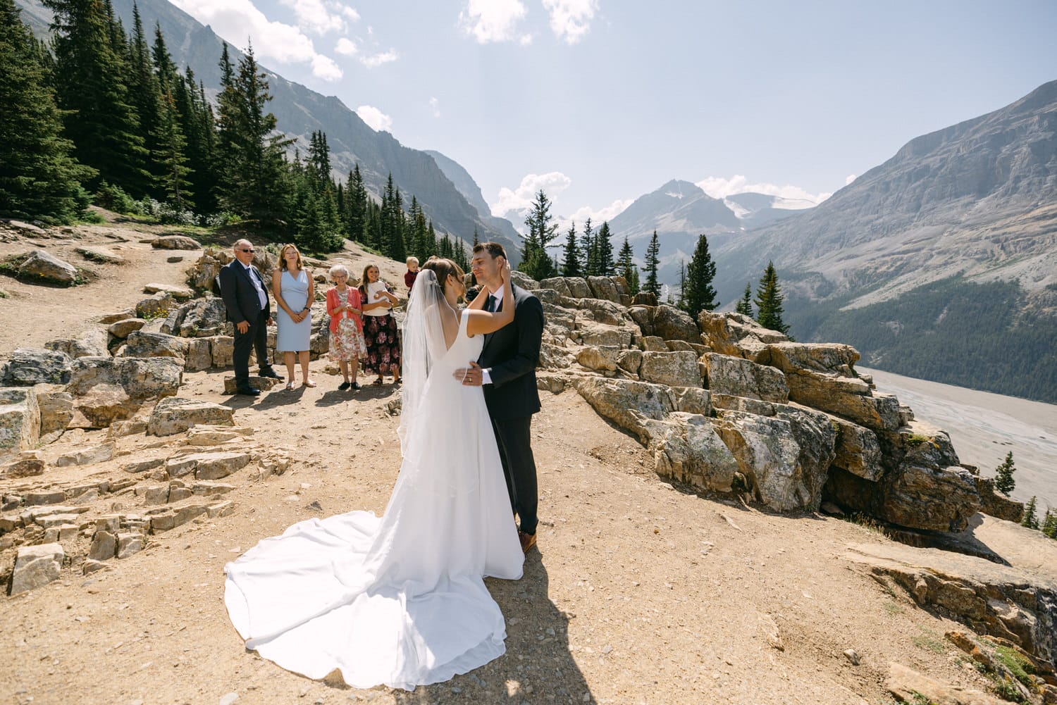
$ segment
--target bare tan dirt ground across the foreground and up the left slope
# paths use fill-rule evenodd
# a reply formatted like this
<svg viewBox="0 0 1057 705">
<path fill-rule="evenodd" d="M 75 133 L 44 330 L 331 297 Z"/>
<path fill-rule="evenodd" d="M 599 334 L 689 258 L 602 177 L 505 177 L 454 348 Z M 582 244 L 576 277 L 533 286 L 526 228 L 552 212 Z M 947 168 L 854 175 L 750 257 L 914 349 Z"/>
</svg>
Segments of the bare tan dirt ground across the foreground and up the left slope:
<svg viewBox="0 0 1057 705">
<path fill-rule="evenodd" d="M 86 264 L 98 278 L 53 289 L 0 277 L 0 354 L 40 347 L 95 326 L 145 298 L 148 282 L 183 283 L 198 253 L 152 249 L 160 228 L 84 227 L 39 240 L 71 262 L 101 244 L 123 265 Z M 36 240 L 35 238 L 33 240 Z M 33 247 L 0 242 L 0 257 Z M 169 257 L 182 256 L 180 262 Z M 357 260 L 358 261 L 358 260 Z M 397 280 L 403 263 L 387 263 Z M 891 702 L 890 662 L 941 681 L 985 689 L 947 643 L 956 623 L 920 610 L 842 558 L 849 543 L 884 542 L 863 526 L 779 516 L 662 482 L 637 441 L 601 420 L 575 392 L 544 393 L 533 424 L 539 468 L 538 550 L 517 581 L 489 580 L 507 620 L 506 654 L 414 692 L 310 681 L 244 649 L 223 605 L 224 563 L 260 539 L 312 517 L 382 513 L 400 469 L 397 388 L 338 392 L 340 377 L 312 364 L 315 389 L 256 400 L 222 394 L 223 375 L 185 374 L 181 396 L 230 405 L 247 444 L 285 449 L 280 476 L 225 479 L 230 516 L 199 519 L 150 537 L 110 570 L 0 596 L 0 702 L 132 703 L 645 703 L 650 705 Z M 106 431 L 68 433 L 49 456 Z M 124 463 L 164 454 L 181 437 L 118 440 L 118 458 L 50 467 L 36 480 L 118 477 Z M 24 481 L 22 481 L 24 482 Z M 2 485 L 2 482 L 0 482 Z M 3 489 L 3 486 L 0 486 Z M 137 511 L 131 495 L 108 511 Z M 311 506 L 317 502 L 321 511 Z M 853 666 L 843 654 L 861 657 Z"/>
</svg>

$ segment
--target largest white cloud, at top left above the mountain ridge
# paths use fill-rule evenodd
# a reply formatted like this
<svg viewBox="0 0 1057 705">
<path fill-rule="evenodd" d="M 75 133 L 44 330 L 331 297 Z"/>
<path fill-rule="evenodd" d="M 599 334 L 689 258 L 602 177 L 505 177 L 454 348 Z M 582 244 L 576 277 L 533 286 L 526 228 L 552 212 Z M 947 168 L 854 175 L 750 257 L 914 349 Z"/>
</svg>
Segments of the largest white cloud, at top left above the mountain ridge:
<svg viewBox="0 0 1057 705">
<path fill-rule="evenodd" d="M 326 56 L 316 53 L 312 40 L 291 24 L 273 22 L 251 0 L 173 0 L 173 3 L 240 49 L 253 41 L 258 60 L 279 63 L 309 63 L 313 72 L 328 73 Z M 317 63 L 318 58 L 318 63 Z M 333 63 L 333 61 L 331 61 Z M 332 70 L 331 70 L 332 73 Z M 318 75 L 318 73 L 317 73 Z"/>
</svg>

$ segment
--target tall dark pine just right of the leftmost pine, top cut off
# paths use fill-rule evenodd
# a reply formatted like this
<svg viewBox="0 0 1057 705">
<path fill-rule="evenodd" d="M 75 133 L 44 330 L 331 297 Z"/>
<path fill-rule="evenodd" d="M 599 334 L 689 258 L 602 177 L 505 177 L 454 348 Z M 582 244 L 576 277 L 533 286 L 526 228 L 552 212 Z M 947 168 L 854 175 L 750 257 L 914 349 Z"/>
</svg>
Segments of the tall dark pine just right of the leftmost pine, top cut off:
<svg viewBox="0 0 1057 705">
<path fill-rule="evenodd" d="M 109 2 L 44 0 L 55 13 L 55 87 L 66 134 L 77 159 L 103 181 L 134 196 L 151 187 L 147 150 L 135 109 L 129 103 L 128 49 Z"/>
</svg>

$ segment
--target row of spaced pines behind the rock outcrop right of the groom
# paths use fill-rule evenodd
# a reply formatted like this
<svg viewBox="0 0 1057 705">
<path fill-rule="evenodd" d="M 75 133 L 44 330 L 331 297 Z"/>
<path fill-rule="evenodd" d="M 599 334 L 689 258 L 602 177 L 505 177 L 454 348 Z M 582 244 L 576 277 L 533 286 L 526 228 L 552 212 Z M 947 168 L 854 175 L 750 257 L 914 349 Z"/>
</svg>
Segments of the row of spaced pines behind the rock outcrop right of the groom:
<svg viewBox="0 0 1057 705">
<path fill-rule="evenodd" d="M 608 221 L 595 229 L 591 219 L 588 218 L 579 234 L 576 230 L 576 223 L 572 223 L 565 233 L 564 244 L 560 245 L 560 258 L 558 253 L 549 254 L 549 248 L 553 247 L 552 243 L 559 236 L 558 225 L 553 221 L 551 200 L 546 192 L 540 189 L 525 217 L 526 234 L 521 263 L 518 265 L 519 271 L 536 280 L 557 276 L 620 276 L 627 282 L 632 296 L 642 291 L 653 294 L 660 300 L 661 282 L 657 271 L 661 265 L 661 244 L 656 230 L 653 230 L 653 236 L 646 247 L 645 265 L 639 273 L 627 236 L 624 237 L 624 244 L 614 260 L 613 234 Z M 686 311 L 694 319 L 702 311 L 715 311 L 720 305 L 716 289 L 712 286 L 715 279 L 716 262 L 708 252 L 708 238 L 702 234 L 698 236 L 697 246 L 689 261 L 680 263 L 678 298 L 669 302 Z M 735 310 L 752 318 L 755 303 L 757 322 L 764 328 L 787 334 L 790 328 L 782 319 L 783 300 L 775 264 L 768 262 L 760 278 L 756 297 L 753 297 L 752 284 L 746 283 L 744 296 L 738 301 Z"/>
</svg>

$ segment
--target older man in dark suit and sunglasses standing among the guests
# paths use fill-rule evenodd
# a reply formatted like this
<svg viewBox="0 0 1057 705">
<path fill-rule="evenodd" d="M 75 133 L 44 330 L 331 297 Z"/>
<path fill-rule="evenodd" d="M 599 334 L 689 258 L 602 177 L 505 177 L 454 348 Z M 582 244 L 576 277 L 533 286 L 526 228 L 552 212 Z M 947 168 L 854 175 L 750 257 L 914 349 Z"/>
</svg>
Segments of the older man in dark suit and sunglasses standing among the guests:
<svg viewBox="0 0 1057 705">
<path fill-rule="evenodd" d="M 235 243 L 235 260 L 220 270 L 220 293 L 227 309 L 227 319 L 235 323 L 236 393 L 257 396 L 260 391 L 249 386 L 249 352 L 257 349 L 258 374 L 281 379 L 267 361 L 267 327 L 272 324 L 267 285 L 253 265 L 254 245 L 248 240 Z"/>
</svg>

